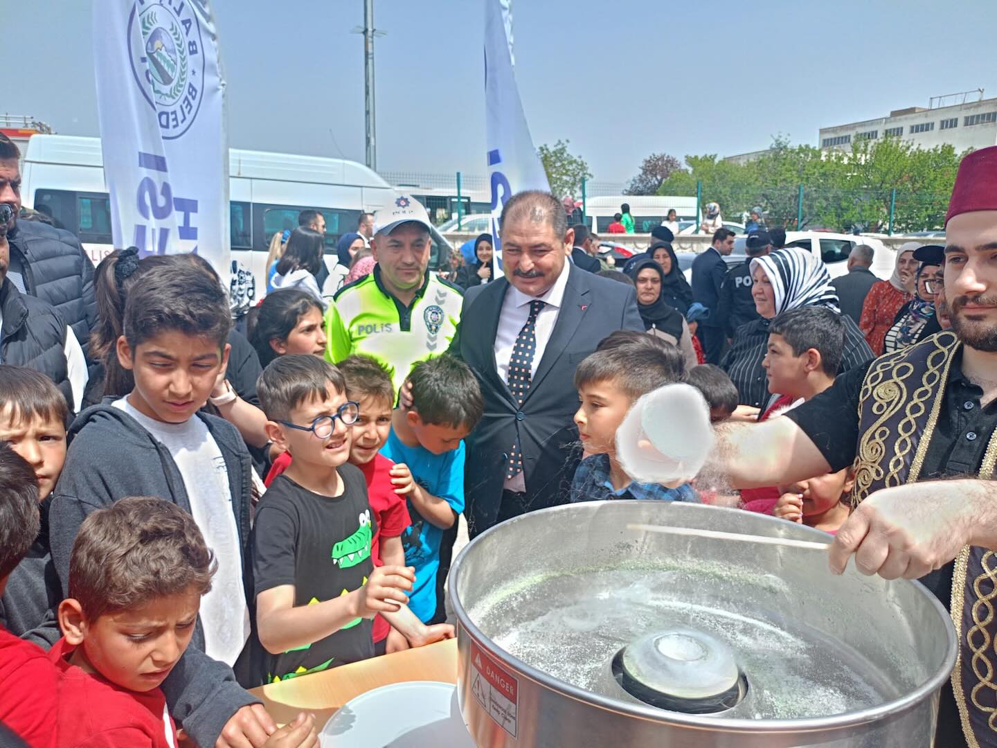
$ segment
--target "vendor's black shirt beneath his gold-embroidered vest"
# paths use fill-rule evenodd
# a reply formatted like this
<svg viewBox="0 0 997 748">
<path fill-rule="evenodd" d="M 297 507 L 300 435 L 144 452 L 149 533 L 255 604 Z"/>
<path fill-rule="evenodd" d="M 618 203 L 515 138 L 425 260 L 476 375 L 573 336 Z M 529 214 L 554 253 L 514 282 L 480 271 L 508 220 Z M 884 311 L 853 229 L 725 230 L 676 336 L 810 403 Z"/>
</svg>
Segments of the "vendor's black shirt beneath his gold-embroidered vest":
<svg viewBox="0 0 997 748">
<path fill-rule="evenodd" d="M 821 450 L 832 471 L 850 466 L 855 459 L 859 394 L 869 365 L 839 375 L 830 389 L 786 414 Z M 960 349 L 952 359 L 938 422 L 924 455 L 922 481 L 977 475 L 990 435 L 997 426 L 997 400 L 982 408 L 982 395 L 983 390 L 962 373 Z M 946 609 L 952 601 L 952 569 L 953 563 L 949 562 L 919 579 Z M 965 744 L 952 685 L 946 680 L 939 704 L 935 746 Z"/>
</svg>

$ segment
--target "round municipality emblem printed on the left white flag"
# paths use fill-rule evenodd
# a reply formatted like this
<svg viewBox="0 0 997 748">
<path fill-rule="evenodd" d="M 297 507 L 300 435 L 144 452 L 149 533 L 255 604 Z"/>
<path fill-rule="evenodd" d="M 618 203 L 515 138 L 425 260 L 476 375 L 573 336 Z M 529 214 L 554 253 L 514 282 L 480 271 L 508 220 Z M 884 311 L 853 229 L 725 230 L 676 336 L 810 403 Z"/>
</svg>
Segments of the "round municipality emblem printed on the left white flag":
<svg viewBox="0 0 997 748">
<path fill-rule="evenodd" d="M 145 6 L 140 10 L 140 6 Z M 166 140 L 193 124 L 204 94 L 200 22 L 190 3 L 137 0 L 129 16 L 129 59 Z M 152 96 L 151 96 L 152 95 Z"/>
</svg>

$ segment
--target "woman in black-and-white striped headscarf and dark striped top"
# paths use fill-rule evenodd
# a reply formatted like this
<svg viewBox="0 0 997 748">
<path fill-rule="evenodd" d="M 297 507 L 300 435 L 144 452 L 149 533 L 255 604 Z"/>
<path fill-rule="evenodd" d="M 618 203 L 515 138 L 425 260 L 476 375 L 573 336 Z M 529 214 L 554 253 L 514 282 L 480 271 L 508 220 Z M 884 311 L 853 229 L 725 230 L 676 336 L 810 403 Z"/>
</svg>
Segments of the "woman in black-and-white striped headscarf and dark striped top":
<svg viewBox="0 0 997 748">
<path fill-rule="evenodd" d="M 777 249 L 751 261 L 752 297 L 762 316 L 741 325 L 734 344 L 724 357 L 724 370 L 734 381 L 742 405 L 762 408 L 769 400 L 768 378 L 762 368 L 769 344 L 769 322 L 777 314 L 802 306 L 827 306 L 840 314 L 837 294 L 824 262 L 805 249 Z M 868 343 L 846 314 L 844 351 L 840 371 L 847 371 L 873 358 Z"/>
</svg>

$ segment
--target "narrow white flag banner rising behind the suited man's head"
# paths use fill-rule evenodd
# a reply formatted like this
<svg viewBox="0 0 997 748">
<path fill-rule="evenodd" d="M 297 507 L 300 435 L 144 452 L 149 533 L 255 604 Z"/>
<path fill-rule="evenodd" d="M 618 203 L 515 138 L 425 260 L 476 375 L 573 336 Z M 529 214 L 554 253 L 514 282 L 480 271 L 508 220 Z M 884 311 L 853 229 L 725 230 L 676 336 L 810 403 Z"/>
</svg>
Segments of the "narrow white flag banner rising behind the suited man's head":
<svg viewBox="0 0 997 748">
<path fill-rule="evenodd" d="M 501 256 L 498 216 L 502 205 L 523 189 L 549 190 L 543 164 L 529 137 L 526 116 L 512 71 L 509 0 L 485 0 L 485 110 L 489 177 L 492 183 L 492 238 Z"/>
</svg>

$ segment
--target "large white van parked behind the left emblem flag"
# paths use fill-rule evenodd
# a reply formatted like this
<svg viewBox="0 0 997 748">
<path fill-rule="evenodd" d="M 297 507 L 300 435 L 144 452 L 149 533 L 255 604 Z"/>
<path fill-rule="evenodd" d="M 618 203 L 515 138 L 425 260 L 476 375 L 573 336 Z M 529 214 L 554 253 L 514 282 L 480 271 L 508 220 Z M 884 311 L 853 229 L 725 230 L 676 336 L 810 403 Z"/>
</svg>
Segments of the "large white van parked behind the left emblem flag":
<svg viewBox="0 0 997 748">
<path fill-rule="evenodd" d="M 298 225 L 298 213 L 316 208 L 325 216 L 325 261 L 336 263 L 336 241 L 357 229 L 364 211 L 382 207 L 398 190 L 356 162 L 313 156 L 228 152 L 231 257 L 250 269 L 256 295 L 266 291 L 270 237 Z M 95 264 L 114 248 L 111 202 L 104 182 L 101 142 L 97 138 L 36 135 L 24 156 L 22 199 L 80 237 Z M 433 231 L 430 267 L 451 246 Z M 442 251 L 441 251 L 442 250 Z"/>
</svg>

